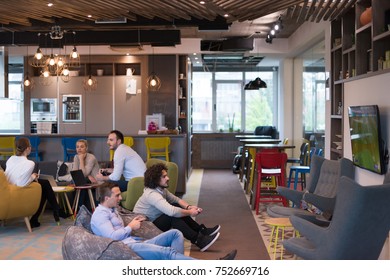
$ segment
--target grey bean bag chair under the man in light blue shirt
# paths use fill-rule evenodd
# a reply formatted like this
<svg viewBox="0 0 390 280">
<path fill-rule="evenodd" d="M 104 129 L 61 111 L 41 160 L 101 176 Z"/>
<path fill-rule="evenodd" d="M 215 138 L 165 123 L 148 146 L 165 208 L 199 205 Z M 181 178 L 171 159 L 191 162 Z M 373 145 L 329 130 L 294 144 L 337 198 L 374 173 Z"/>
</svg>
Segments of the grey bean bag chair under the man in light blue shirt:
<svg viewBox="0 0 390 280">
<path fill-rule="evenodd" d="M 120 214 L 125 224 L 137 214 L 124 208 Z M 91 212 L 83 205 L 77 213 L 73 226 L 67 228 L 62 241 L 62 257 L 64 260 L 137 260 L 141 259 L 121 241 L 94 235 L 91 230 Z M 161 231 L 150 221 L 144 221 L 141 228 L 132 234 L 150 239 Z"/>
</svg>

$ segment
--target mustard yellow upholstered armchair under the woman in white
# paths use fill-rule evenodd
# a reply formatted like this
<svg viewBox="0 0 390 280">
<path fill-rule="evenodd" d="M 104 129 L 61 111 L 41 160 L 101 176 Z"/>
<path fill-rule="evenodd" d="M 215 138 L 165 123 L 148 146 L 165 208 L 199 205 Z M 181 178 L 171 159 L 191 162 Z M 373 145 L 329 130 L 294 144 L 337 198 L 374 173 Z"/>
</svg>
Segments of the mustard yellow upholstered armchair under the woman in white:
<svg viewBox="0 0 390 280">
<path fill-rule="evenodd" d="M 33 182 L 26 187 L 8 183 L 4 171 L 0 171 L 0 220 L 24 217 L 27 229 L 32 232 L 30 216 L 38 210 L 42 188 Z"/>
</svg>

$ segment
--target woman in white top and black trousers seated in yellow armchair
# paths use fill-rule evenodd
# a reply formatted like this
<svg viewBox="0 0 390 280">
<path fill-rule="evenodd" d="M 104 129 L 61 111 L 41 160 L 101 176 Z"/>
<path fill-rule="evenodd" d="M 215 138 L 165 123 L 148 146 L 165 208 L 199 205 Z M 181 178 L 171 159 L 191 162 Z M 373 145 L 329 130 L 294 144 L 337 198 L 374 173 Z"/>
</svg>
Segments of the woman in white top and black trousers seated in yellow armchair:
<svg viewBox="0 0 390 280">
<path fill-rule="evenodd" d="M 69 217 L 58 205 L 53 189 L 47 180 L 39 179 L 39 175 L 33 172 L 35 163 L 32 160 L 27 159 L 31 153 L 31 144 L 28 138 L 19 138 L 16 141 L 16 155 L 11 156 L 6 163 L 5 176 L 8 182 L 16 186 L 25 187 L 32 181 L 38 181 L 42 187 L 41 202 L 37 212 L 31 217 L 31 227 L 39 227 L 38 221 L 41 215 L 43 206 L 46 200 L 50 203 L 53 208 L 53 216 L 55 221 L 58 223 L 61 218 Z"/>
</svg>

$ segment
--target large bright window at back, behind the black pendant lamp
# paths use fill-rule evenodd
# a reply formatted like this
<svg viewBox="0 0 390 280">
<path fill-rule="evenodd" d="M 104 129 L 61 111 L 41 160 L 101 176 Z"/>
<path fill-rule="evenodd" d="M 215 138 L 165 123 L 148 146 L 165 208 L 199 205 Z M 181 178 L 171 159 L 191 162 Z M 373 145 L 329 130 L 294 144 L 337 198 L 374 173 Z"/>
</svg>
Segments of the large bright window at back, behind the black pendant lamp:
<svg viewBox="0 0 390 280">
<path fill-rule="evenodd" d="M 268 69 L 267 69 L 268 70 Z M 277 71 L 193 72 L 194 132 L 253 132 L 277 123 Z M 267 88 L 244 90 L 261 77 Z"/>
</svg>

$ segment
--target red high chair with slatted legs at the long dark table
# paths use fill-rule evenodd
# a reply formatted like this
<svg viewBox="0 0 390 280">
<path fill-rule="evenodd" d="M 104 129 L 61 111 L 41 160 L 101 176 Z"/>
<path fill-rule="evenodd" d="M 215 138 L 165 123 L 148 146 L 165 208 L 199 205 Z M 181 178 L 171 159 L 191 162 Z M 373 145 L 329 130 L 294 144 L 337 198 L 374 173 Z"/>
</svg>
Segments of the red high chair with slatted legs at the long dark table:
<svg viewBox="0 0 390 280">
<path fill-rule="evenodd" d="M 260 202 L 282 202 L 284 206 L 288 206 L 286 198 L 276 191 L 276 186 L 261 186 L 262 178 L 275 177 L 277 186 L 286 187 L 286 162 L 287 154 L 283 152 L 262 150 L 256 154 L 256 215 L 259 214 Z"/>
</svg>

